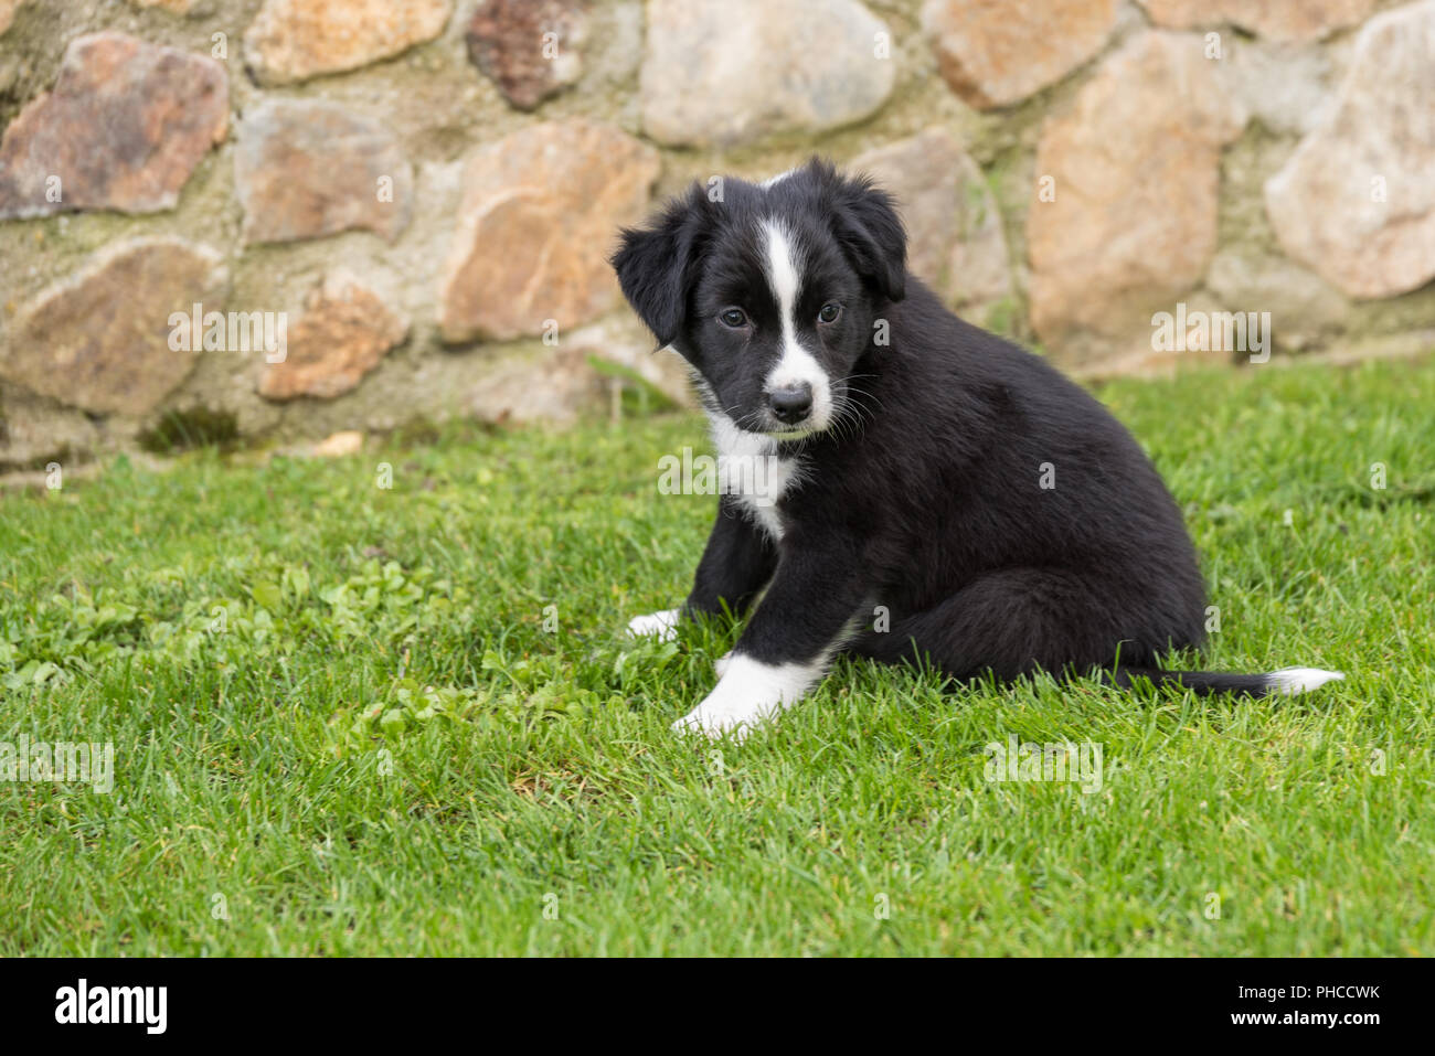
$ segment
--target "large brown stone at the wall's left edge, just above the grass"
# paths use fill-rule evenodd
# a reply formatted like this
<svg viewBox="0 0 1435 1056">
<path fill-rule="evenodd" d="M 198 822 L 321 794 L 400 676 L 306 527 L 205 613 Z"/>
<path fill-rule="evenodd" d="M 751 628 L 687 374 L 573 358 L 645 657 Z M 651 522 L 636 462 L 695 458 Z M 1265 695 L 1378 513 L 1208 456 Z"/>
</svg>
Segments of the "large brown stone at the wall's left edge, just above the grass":
<svg viewBox="0 0 1435 1056">
<path fill-rule="evenodd" d="M 201 341 L 171 349 L 171 316 L 218 308 L 224 283 L 222 258 L 205 245 L 119 242 L 22 308 L 0 373 L 85 410 L 144 415 L 198 359 Z"/>
</svg>

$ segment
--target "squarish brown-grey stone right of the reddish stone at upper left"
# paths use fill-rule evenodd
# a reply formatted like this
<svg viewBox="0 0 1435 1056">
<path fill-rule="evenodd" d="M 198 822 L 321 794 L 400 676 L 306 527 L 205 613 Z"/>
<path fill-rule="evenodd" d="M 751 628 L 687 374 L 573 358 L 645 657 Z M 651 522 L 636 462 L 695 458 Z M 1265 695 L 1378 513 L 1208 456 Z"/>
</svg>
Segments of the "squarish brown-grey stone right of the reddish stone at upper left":
<svg viewBox="0 0 1435 1056">
<path fill-rule="evenodd" d="M 247 242 L 353 228 L 393 241 L 409 222 L 413 172 L 397 139 L 337 103 L 268 99 L 244 116 L 237 139 Z"/>
</svg>

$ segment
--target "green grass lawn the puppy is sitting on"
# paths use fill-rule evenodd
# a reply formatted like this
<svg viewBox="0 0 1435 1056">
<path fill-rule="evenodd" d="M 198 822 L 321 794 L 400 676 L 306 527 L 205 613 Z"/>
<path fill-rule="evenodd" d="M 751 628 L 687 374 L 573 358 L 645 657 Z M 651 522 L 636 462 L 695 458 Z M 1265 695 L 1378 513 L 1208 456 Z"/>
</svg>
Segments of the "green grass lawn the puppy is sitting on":
<svg viewBox="0 0 1435 1056">
<path fill-rule="evenodd" d="M 683 415 L 0 498 L 0 740 L 115 749 L 109 795 L 0 782 L 0 954 L 1431 953 L 1435 364 L 1101 396 L 1185 508 L 1204 666 L 1345 683 L 841 661 L 674 739 L 733 630 L 618 628 L 706 535 L 656 485 Z M 1010 735 L 1101 745 L 1102 791 L 987 782 Z"/>
</svg>

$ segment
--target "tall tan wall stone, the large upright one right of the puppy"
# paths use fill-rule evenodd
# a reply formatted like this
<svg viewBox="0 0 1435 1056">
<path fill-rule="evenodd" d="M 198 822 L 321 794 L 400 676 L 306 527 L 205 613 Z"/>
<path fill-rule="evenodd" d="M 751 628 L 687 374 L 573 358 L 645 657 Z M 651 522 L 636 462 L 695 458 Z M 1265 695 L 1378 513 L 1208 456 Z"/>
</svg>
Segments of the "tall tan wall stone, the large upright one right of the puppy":
<svg viewBox="0 0 1435 1056">
<path fill-rule="evenodd" d="M 1151 313 L 1200 281 L 1221 146 L 1244 123 L 1201 37 L 1164 32 L 1129 40 L 1048 119 L 1026 238 L 1032 324 L 1055 352 L 1075 331 L 1149 334 Z"/>
</svg>

